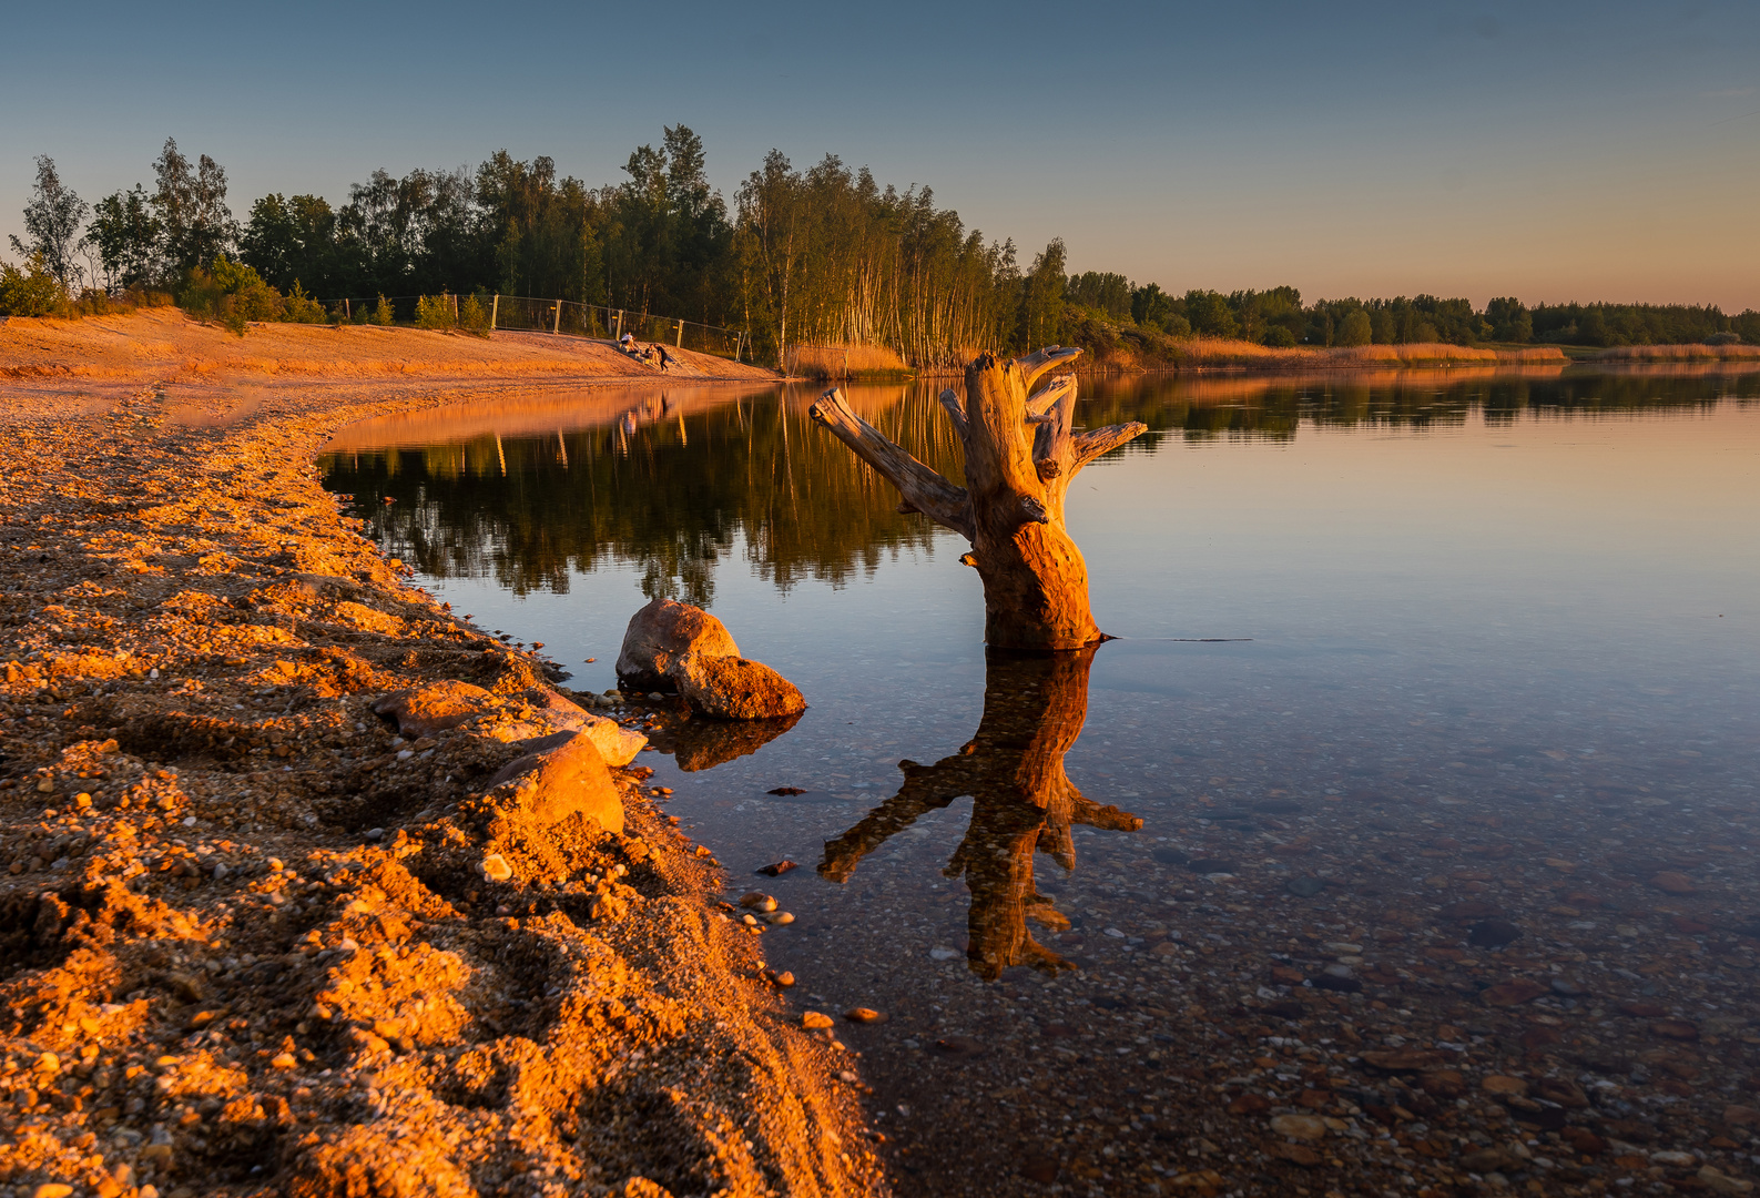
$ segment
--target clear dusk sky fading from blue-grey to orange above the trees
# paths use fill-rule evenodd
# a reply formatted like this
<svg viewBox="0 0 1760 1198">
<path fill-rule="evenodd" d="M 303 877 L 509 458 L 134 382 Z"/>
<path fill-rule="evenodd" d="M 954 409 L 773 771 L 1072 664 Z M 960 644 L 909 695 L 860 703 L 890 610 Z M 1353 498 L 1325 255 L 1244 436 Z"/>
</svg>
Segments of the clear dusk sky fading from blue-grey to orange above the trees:
<svg viewBox="0 0 1760 1198">
<path fill-rule="evenodd" d="M 111 4 L 0 16 L 0 234 L 33 158 L 86 201 L 165 137 L 229 202 L 662 127 L 730 199 L 764 153 L 928 185 L 1023 264 L 1760 308 L 1760 4 Z"/>
</svg>

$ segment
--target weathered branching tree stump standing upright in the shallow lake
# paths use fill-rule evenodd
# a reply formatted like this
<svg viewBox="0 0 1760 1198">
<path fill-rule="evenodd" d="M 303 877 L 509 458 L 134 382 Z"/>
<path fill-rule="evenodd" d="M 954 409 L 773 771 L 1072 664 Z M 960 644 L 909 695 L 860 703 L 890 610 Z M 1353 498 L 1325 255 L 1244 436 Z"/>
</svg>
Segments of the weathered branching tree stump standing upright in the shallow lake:
<svg viewBox="0 0 1760 1198">
<path fill-rule="evenodd" d="M 1051 347 L 966 366 L 966 396 L 942 392 L 964 445 L 959 487 L 894 445 L 850 410 L 841 391 L 813 405 L 813 419 L 878 470 L 922 512 L 972 542 L 961 558 L 984 579 L 984 640 L 998 649 L 1081 649 L 1100 640 L 1088 610 L 1088 563 L 1063 528 L 1063 496 L 1082 466 L 1148 431 L 1114 424 L 1074 435 L 1075 376 L 1028 389 L 1081 350 Z"/>
</svg>

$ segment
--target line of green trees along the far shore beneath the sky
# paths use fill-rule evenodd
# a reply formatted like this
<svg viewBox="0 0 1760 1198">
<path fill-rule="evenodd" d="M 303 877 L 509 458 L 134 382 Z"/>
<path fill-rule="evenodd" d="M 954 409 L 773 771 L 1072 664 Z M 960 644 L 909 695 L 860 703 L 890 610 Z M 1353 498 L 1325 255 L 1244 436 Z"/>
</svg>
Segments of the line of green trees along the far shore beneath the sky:
<svg viewBox="0 0 1760 1198">
<path fill-rule="evenodd" d="M 882 186 L 827 155 L 806 171 L 766 155 L 732 197 L 709 186 L 702 139 L 678 125 L 625 179 L 588 186 L 551 158 L 507 151 L 475 171 L 375 171 L 333 208 L 264 195 L 238 220 L 225 169 L 165 141 L 153 186 L 88 206 L 37 158 L 19 266 L 0 266 L 0 315 L 51 311 L 125 289 L 252 318 L 329 318 L 343 297 L 491 292 L 605 304 L 746 329 L 760 361 L 797 343 L 880 345 L 917 366 L 980 348 L 1054 343 L 1104 322 L 1172 338 L 1272 347 L 1445 341 L 1584 347 L 1760 343 L 1760 313 L 1686 304 L 1492 299 L 1318 299 L 1294 287 L 1163 292 L 1123 274 L 1067 273 L 1061 239 L 1021 264 L 926 186 Z M 248 267 L 248 269 L 246 269 Z M 357 306 L 354 311 L 364 311 Z M 241 306 L 239 311 L 245 311 Z"/>
</svg>

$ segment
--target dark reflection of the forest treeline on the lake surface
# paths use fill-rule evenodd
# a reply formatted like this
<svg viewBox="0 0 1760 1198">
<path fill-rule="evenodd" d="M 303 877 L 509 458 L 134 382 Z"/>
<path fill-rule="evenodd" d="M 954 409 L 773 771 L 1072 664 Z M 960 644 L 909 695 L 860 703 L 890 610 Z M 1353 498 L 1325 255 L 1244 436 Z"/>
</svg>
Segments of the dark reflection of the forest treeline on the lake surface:
<svg viewBox="0 0 1760 1198">
<path fill-rule="evenodd" d="M 1142 420 L 1116 450 L 1294 442 L 1311 429 L 1456 429 L 1519 417 L 1624 417 L 1760 398 L 1760 373 L 1633 368 L 1355 371 L 1271 378 L 1139 376 L 1091 387 L 1084 427 Z M 854 387 L 850 403 L 931 468 L 959 475 L 936 384 Z M 368 535 L 435 579 L 495 579 L 563 595 L 577 573 L 628 563 L 649 598 L 711 605 L 716 566 L 743 545 L 778 591 L 845 586 L 936 530 L 811 427 L 813 389 L 560 392 L 385 417 L 345 429 L 326 484 L 363 496 Z M 396 503 L 382 503 L 391 496 Z"/>
</svg>

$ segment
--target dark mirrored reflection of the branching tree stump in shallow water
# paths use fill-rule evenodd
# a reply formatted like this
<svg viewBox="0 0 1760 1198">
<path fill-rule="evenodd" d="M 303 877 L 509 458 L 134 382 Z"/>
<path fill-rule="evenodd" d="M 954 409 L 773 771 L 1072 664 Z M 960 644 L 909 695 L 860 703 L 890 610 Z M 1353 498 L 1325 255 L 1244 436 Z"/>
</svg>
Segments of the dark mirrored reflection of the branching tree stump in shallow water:
<svg viewBox="0 0 1760 1198">
<path fill-rule="evenodd" d="M 1063 755 L 1088 716 L 1088 670 L 1095 649 L 986 654 L 984 718 L 972 742 L 935 765 L 899 762 L 905 785 L 861 823 L 825 843 L 818 873 L 847 881 L 862 857 L 928 811 L 972 797 L 972 823 L 942 871 L 972 892 L 972 971 L 994 980 L 1008 966 L 1056 973 L 1070 962 L 1033 939 L 1028 918 L 1061 931 L 1068 918 L 1033 885 L 1033 853 L 1075 869 L 1070 829 L 1135 832 L 1142 820 L 1086 799 L 1063 772 Z"/>
</svg>

